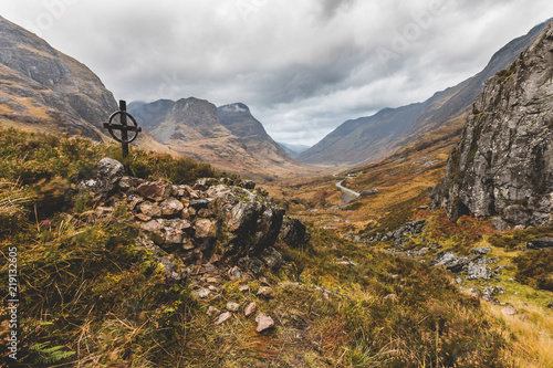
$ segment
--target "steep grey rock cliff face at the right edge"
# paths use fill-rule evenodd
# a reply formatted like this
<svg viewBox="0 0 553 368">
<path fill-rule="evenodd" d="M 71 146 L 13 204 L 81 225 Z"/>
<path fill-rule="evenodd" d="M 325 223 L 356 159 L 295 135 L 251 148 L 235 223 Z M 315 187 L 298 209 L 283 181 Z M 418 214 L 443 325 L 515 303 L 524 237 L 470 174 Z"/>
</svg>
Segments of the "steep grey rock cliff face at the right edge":
<svg viewBox="0 0 553 368">
<path fill-rule="evenodd" d="M 452 220 L 470 212 L 552 224 L 552 141 L 553 23 L 487 81 L 435 190 L 436 203 Z"/>
</svg>

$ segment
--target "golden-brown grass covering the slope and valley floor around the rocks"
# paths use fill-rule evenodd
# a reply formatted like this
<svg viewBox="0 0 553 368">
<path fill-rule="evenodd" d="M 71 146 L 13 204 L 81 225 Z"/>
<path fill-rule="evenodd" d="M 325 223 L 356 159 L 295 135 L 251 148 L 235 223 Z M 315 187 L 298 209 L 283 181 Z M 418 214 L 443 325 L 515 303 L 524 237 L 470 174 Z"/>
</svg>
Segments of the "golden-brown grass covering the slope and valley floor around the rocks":
<svg viewBox="0 0 553 368">
<path fill-rule="evenodd" d="M 344 215 L 352 220 L 349 224 L 338 219 L 338 231 L 311 225 L 309 244 L 300 249 L 283 243 L 275 245 L 288 264 L 276 274 L 225 281 L 217 286 L 215 296 L 199 299 L 189 284 L 167 282 L 164 266 L 140 245 L 137 225 L 125 208 L 97 215 L 84 200 L 74 200 L 75 180 L 90 174 L 104 155 L 116 158 L 113 146 L 20 132 L 10 132 L 9 137 L 1 135 L 0 139 L 3 154 L 0 220 L 19 219 L 7 222 L 8 228 L 3 229 L 9 231 L 0 233 L 0 250 L 6 259 L 6 250 L 18 246 L 23 299 L 20 366 L 511 367 L 533 364 L 546 367 L 551 361 L 551 338 L 540 335 L 551 328 L 551 313 L 531 303 L 540 298 L 543 304 L 552 295 L 550 292 L 502 280 L 501 285 L 508 292 L 518 292 L 518 301 L 528 303 L 524 314 L 529 319 L 511 320 L 478 298 L 459 293 L 449 273 L 386 254 L 378 244 L 366 246 L 343 236 L 343 231 L 362 231 L 367 223 L 393 227 L 421 217 L 429 220 L 425 236 L 462 252 L 474 244 L 489 244 L 492 238 L 500 241 L 514 236 L 490 234 L 490 224 L 486 221 L 462 218 L 457 224 L 450 224 L 445 222 L 441 212 L 429 215 L 428 211 L 417 210 L 426 201 L 422 188 L 439 168 L 421 172 L 416 179 L 414 172 L 418 169 L 416 165 L 409 166 L 411 169 L 398 174 L 404 179 L 410 178 L 409 185 L 401 185 L 403 179 L 397 176 L 388 180 L 386 175 L 372 171 L 394 174 L 401 169 L 397 165 L 410 165 L 409 161 L 386 164 L 395 166 L 393 170 L 386 165 L 366 169 L 366 175 L 355 180 L 368 177 L 379 180 L 380 197 L 364 199 L 354 212 L 326 209 L 311 217 L 316 223 Z M 149 179 L 170 178 L 177 182 L 190 182 L 210 170 L 199 164 L 187 165 L 142 151 L 133 151 L 126 162 L 129 174 Z M 213 171 L 213 176 L 220 175 Z M 368 185 L 375 183 L 371 180 Z M 312 197 L 317 206 L 333 206 L 333 179 L 317 181 Z M 301 192 L 306 186 L 284 190 Z M 388 199 L 386 214 L 378 213 L 377 209 L 386 206 Z M 63 206 L 41 211 L 41 208 L 52 209 L 48 203 L 53 201 L 61 201 Z M 301 200 L 298 203 L 301 204 Z M 388 214 L 392 215 L 386 219 Z M 517 236 L 524 239 L 531 231 Z M 512 260 L 521 253 L 494 246 L 493 254 Z M 337 260 L 348 260 L 356 266 L 338 264 Z M 513 278 L 519 271 L 511 266 L 505 269 L 505 275 Z M 6 278 L 7 272 L 7 264 L 2 262 L 0 276 Z M 244 284 L 249 291 L 240 292 L 239 286 Z M 265 285 L 272 287 L 271 297 L 257 294 Z M 255 302 L 259 312 L 274 319 L 275 327 L 255 333 L 254 317 L 244 317 L 242 309 L 216 326 L 213 317 L 206 312 L 209 306 L 225 311 L 228 302 L 236 302 L 241 308 Z M 1 313 L 3 318 L 6 309 Z M 8 333 L 2 325 L 0 337 L 4 338 Z"/>
</svg>

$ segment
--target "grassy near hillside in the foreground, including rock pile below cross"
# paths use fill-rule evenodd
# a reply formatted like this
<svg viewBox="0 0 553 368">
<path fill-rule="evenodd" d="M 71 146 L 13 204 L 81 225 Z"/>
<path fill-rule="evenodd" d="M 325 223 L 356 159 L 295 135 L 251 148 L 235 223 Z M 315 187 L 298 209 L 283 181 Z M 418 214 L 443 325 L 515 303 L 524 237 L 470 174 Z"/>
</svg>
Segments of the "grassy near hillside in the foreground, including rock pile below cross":
<svg viewBox="0 0 553 368">
<path fill-rule="evenodd" d="M 250 182 L 167 155 L 122 160 L 83 138 L 0 139 L 20 367 L 510 366 L 503 327 L 445 271 L 319 227 L 307 235 L 286 215 L 278 236 L 260 235 L 274 234 L 257 221 L 263 206 L 280 206 Z M 260 242 L 272 250 L 240 253 Z"/>
</svg>

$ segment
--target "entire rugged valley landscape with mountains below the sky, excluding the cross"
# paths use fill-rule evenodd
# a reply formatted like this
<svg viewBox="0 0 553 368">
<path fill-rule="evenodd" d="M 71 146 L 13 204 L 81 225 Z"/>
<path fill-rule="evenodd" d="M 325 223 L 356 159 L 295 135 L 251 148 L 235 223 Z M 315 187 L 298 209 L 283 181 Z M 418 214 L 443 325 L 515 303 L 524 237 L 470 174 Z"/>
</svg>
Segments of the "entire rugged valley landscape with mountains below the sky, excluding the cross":
<svg viewBox="0 0 553 368">
<path fill-rule="evenodd" d="M 311 148 L 243 103 L 135 101 L 128 157 L 92 71 L 0 33 L 11 366 L 553 366 L 553 23 Z"/>
</svg>

